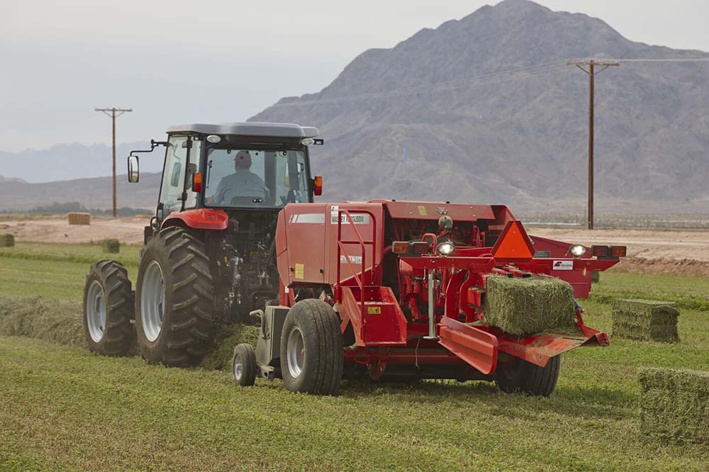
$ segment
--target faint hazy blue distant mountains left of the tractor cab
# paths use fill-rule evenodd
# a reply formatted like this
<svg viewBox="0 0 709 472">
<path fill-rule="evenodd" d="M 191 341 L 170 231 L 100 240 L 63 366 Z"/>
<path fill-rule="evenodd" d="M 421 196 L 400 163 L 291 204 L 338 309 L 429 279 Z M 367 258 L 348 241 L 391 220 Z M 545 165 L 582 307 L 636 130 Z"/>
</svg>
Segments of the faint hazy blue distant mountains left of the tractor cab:
<svg viewBox="0 0 709 472">
<path fill-rule="evenodd" d="M 127 142 L 116 146 L 116 172 L 125 172 L 125 157 L 136 149 L 150 149 L 150 144 Z M 141 170 L 162 171 L 164 151 L 161 153 L 160 149 L 153 154 L 143 154 Z M 107 176 L 112 172 L 111 152 L 111 146 L 78 142 L 43 150 L 0 151 L 0 169 L 6 178 L 20 178 L 32 183 Z"/>
</svg>

